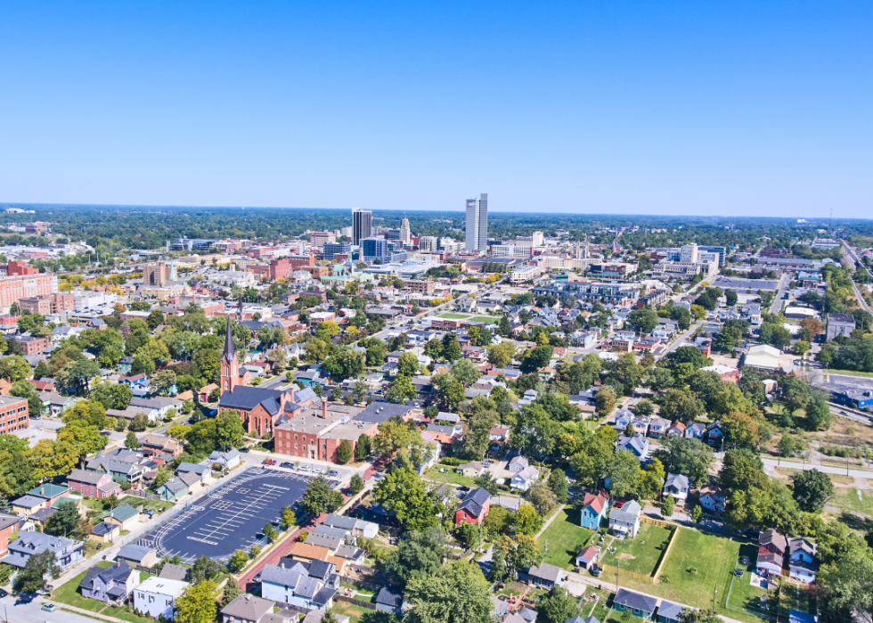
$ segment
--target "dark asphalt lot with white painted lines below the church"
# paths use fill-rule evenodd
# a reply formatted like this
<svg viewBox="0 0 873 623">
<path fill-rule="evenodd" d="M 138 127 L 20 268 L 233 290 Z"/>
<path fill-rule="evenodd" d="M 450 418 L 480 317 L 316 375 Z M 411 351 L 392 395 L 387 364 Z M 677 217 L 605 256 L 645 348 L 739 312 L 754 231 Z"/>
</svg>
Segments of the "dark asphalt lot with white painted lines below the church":
<svg viewBox="0 0 873 623">
<path fill-rule="evenodd" d="M 179 555 L 192 563 L 200 556 L 227 562 L 238 549 L 249 551 L 267 522 L 277 524 L 281 510 L 303 497 L 306 476 L 263 467 L 250 468 L 139 539 L 158 556 Z"/>
</svg>

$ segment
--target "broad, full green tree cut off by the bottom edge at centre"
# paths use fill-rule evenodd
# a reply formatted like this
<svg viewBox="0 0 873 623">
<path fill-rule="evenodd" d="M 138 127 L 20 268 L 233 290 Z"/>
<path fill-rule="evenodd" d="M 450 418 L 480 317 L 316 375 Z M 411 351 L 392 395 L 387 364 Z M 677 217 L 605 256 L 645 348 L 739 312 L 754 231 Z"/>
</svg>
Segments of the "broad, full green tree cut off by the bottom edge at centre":
<svg viewBox="0 0 873 623">
<path fill-rule="evenodd" d="M 409 623 L 481 623 L 493 605 L 488 582 L 476 562 L 454 561 L 436 572 L 412 578 L 405 597 Z"/>
</svg>

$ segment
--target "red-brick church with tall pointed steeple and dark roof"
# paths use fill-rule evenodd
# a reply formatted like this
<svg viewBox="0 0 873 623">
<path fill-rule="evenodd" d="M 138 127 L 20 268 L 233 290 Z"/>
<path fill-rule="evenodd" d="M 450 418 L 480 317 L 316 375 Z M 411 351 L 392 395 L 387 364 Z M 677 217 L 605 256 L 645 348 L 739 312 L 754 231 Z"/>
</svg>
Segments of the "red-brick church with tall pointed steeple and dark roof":
<svg viewBox="0 0 873 623">
<path fill-rule="evenodd" d="M 221 357 L 221 380 L 218 386 L 218 413 L 235 411 L 242 418 L 242 427 L 249 435 L 273 435 L 273 430 L 290 418 L 303 413 L 308 406 L 321 401 L 312 388 L 264 389 L 249 387 L 249 373 L 240 373 L 240 362 L 233 348 L 231 316 L 227 316 L 224 353 Z"/>
</svg>

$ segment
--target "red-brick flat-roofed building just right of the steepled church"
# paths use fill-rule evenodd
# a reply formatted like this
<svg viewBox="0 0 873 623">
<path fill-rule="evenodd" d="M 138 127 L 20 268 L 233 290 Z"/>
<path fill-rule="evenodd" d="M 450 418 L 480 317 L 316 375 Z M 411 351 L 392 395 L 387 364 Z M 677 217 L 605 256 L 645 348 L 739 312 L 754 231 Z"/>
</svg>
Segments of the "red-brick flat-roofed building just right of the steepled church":
<svg viewBox="0 0 873 623">
<path fill-rule="evenodd" d="M 344 440 L 355 449 L 361 435 L 375 437 L 379 425 L 355 420 L 363 411 L 358 406 L 329 405 L 307 409 L 275 430 L 275 451 L 281 455 L 322 461 L 336 461 L 337 448 Z"/>
</svg>

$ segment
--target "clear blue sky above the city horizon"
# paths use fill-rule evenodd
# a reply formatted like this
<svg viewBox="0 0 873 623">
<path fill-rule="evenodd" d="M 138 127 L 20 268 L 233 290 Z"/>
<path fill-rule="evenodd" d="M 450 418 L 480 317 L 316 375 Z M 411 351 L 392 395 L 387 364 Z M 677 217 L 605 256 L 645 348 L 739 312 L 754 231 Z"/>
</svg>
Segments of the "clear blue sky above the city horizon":
<svg viewBox="0 0 873 623">
<path fill-rule="evenodd" d="M 3 2 L 0 201 L 873 217 L 873 3 Z"/>
</svg>

